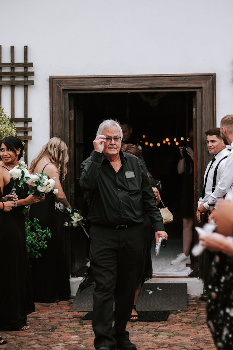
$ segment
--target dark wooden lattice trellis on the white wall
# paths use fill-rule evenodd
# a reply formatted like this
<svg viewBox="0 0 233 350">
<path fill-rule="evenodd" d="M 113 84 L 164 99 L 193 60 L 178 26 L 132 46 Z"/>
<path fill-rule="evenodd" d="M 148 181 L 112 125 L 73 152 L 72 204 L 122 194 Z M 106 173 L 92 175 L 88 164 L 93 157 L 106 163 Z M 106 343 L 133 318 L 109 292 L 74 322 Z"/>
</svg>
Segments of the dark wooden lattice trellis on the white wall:
<svg viewBox="0 0 233 350">
<path fill-rule="evenodd" d="M 28 123 L 31 123 L 31 118 L 28 118 L 28 85 L 33 85 L 34 80 L 28 80 L 29 76 L 34 76 L 34 72 L 29 72 L 28 67 L 33 64 L 28 62 L 28 47 L 24 46 L 24 62 L 16 63 L 14 57 L 14 46 L 10 47 L 10 63 L 2 63 L 2 47 L 0 45 L 0 105 L 2 86 L 10 86 L 10 119 L 15 123 L 24 123 L 24 126 L 16 126 L 16 131 L 23 132 L 24 135 L 19 135 L 19 138 L 24 141 L 24 160 L 28 162 L 28 140 L 31 136 L 28 132 L 32 130 Z M 9 68 L 10 71 L 2 71 L 2 68 Z M 23 68 L 23 71 L 15 71 L 15 68 Z M 9 80 L 2 80 L 2 77 L 10 77 Z M 15 77 L 22 77 L 22 80 L 15 80 Z M 24 118 L 15 117 L 15 86 L 24 86 Z"/>
</svg>

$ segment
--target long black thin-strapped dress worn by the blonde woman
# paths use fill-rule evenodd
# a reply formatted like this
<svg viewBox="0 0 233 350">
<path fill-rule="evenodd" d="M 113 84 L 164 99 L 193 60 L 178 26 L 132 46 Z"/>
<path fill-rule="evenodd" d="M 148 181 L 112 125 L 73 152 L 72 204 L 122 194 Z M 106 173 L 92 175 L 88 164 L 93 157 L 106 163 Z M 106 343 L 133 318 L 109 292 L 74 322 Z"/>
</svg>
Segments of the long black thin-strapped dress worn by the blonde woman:
<svg viewBox="0 0 233 350">
<path fill-rule="evenodd" d="M 34 301 L 52 303 L 68 300 L 70 299 L 70 278 L 57 224 L 55 197 L 52 192 L 45 196 L 43 202 L 31 205 L 29 218 L 30 220 L 37 218 L 42 229 L 48 227 L 52 234 L 47 241 L 47 248 L 41 252 L 42 257 L 30 259 Z"/>
</svg>

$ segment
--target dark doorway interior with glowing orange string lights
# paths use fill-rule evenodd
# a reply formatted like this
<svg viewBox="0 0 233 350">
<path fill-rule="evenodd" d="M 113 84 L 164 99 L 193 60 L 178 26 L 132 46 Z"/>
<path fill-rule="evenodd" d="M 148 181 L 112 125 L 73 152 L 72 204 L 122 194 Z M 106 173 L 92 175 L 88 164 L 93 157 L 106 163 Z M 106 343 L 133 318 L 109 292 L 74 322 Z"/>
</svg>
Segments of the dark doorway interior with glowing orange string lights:
<svg viewBox="0 0 233 350">
<path fill-rule="evenodd" d="M 194 92 L 73 94 L 74 116 L 77 120 L 82 116 L 83 160 L 92 152 L 97 128 L 103 120 L 112 118 L 132 125 L 130 142 L 141 146 L 149 172 L 162 183 L 162 201 L 174 215 L 174 222 L 166 225 L 166 230 L 170 238 L 179 239 L 179 253 L 182 252 L 180 194 L 183 175 L 177 172 L 178 147 L 189 142 L 189 130 L 193 129 L 193 99 Z M 79 121 L 77 123 L 79 125 Z M 78 160 L 80 155 L 75 158 Z M 76 185 L 79 190 L 78 182 Z M 84 205 L 82 210 L 87 215 L 87 204 Z M 86 226 L 89 227 L 88 222 Z"/>
</svg>

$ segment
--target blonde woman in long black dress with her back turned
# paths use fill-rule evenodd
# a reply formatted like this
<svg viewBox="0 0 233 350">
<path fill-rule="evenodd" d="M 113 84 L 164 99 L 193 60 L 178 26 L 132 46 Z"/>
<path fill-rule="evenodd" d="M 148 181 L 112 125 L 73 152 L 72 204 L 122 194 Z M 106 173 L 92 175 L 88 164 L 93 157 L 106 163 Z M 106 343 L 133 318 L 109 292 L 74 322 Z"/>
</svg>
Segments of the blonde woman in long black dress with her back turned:
<svg viewBox="0 0 233 350">
<path fill-rule="evenodd" d="M 60 183 L 60 179 L 63 181 L 67 173 L 67 162 L 65 142 L 53 137 L 31 163 L 30 169 L 33 174 L 43 172 L 49 179 L 56 177 L 54 188 L 58 189 L 56 196 L 50 192 L 45 196 L 43 203 L 31 205 L 29 210 L 29 218 L 37 218 L 42 229 L 48 227 L 52 233 L 42 257 L 30 260 L 34 301 L 37 302 L 51 303 L 70 298 L 70 278 L 55 212 L 55 200 L 70 208 Z"/>
</svg>

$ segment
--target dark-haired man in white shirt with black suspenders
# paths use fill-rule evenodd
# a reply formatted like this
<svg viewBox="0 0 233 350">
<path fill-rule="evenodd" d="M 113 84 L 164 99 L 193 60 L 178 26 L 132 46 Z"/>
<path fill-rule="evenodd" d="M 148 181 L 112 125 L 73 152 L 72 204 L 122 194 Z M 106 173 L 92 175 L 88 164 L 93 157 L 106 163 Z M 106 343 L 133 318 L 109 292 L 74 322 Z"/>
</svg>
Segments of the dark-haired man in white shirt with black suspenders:
<svg viewBox="0 0 233 350">
<path fill-rule="evenodd" d="M 210 214 L 208 201 L 214 188 L 223 177 L 225 163 L 229 154 L 229 150 L 221 138 L 220 128 L 211 128 L 205 134 L 207 136 L 207 148 L 209 153 L 213 155 L 213 159 L 206 167 L 203 190 L 197 203 L 196 216 L 198 222 L 201 222 L 202 215 L 205 215 L 204 222 L 207 222 L 207 216 Z"/>
</svg>

